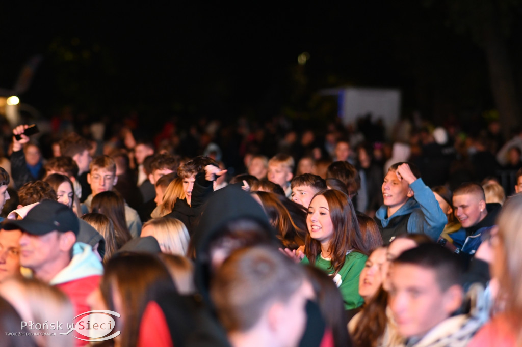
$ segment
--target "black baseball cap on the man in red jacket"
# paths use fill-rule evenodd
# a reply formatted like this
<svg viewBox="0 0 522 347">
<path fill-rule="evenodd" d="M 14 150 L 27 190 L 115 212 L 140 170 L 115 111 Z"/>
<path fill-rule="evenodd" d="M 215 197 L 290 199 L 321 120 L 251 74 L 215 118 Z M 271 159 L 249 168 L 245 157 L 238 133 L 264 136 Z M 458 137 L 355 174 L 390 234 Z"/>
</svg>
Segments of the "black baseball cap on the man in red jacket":
<svg viewBox="0 0 522 347">
<path fill-rule="evenodd" d="M 44 200 L 34 206 L 21 220 L 6 220 L 2 227 L 5 230 L 20 229 L 31 235 L 72 231 L 76 236 L 80 228 L 73 210 L 52 200 Z"/>
</svg>

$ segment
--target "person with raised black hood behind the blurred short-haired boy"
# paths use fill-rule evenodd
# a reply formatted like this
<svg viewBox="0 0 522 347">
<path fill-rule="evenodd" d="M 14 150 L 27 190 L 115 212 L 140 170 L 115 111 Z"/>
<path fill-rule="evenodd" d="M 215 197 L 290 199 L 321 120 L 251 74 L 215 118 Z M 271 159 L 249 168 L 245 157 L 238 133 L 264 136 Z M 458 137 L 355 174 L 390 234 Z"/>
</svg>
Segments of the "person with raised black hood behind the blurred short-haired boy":
<svg viewBox="0 0 522 347">
<path fill-rule="evenodd" d="M 197 294 L 185 296 L 187 309 L 182 317 L 173 310 L 179 305 L 175 298 L 162 298 L 158 301 L 171 328 L 171 334 L 183 334 L 184 345 L 231 345 L 227 332 L 216 315 L 215 305 L 210 296 L 211 283 L 221 264 L 235 250 L 254 245 L 268 245 L 274 249 L 281 246 L 263 208 L 250 194 L 244 192 L 240 185 L 231 184 L 213 192 L 201 212 L 189 245 L 189 254 L 194 256 Z M 322 330 L 313 332 L 312 337 L 306 339 L 307 342 L 320 342 L 325 323 L 317 306 L 311 304 L 307 305 L 307 310 L 313 311 L 315 308 L 315 311 L 314 314 L 309 313 L 307 327 L 315 326 Z M 180 331 L 180 324 L 190 329 Z M 307 345 L 318 346 L 319 343 Z"/>
</svg>

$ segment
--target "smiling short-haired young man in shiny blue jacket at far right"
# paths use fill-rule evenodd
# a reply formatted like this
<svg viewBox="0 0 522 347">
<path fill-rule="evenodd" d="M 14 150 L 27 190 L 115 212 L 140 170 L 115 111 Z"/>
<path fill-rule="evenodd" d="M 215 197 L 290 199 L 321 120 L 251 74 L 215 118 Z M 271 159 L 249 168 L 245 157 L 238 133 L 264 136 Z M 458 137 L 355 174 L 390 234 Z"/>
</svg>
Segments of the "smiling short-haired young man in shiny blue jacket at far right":
<svg viewBox="0 0 522 347">
<path fill-rule="evenodd" d="M 502 206 L 485 202 L 484 189 L 476 183 L 462 183 L 453 193 L 455 217 L 462 227 L 450 234 L 457 253 L 473 255 L 484 235 L 495 226 L 496 216 Z"/>
</svg>

